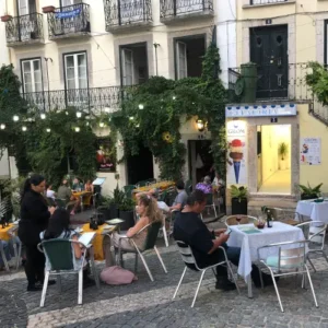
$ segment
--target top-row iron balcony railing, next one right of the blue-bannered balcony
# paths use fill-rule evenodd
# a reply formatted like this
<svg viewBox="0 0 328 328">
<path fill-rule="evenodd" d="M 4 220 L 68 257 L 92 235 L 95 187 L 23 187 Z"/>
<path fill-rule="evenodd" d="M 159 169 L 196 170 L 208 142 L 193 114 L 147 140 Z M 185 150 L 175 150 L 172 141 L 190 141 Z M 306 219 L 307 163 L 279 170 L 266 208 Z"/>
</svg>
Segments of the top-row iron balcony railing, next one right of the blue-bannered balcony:
<svg viewBox="0 0 328 328">
<path fill-rule="evenodd" d="M 152 21 L 151 0 L 105 0 L 106 31 Z"/>
</svg>

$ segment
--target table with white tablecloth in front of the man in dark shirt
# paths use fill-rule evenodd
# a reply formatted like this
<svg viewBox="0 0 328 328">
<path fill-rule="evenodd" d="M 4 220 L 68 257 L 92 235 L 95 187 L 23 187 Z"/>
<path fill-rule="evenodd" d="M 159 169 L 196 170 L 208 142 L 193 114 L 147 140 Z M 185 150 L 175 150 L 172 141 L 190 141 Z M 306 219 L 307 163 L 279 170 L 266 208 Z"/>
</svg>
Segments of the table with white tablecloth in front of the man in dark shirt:
<svg viewBox="0 0 328 328">
<path fill-rule="evenodd" d="M 230 229 L 232 233 L 227 245 L 241 247 L 238 274 L 245 279 L 248 285 L 248 297 L 250 298 L 253 297 L 250 278 L 251 262 L 259 260 L 257 249 L 269 244 L 305 239 L 303 231 L 300 227 L 278 221 L 273 222 L 272 227 L 265 227 L 262 230 L 258 230 L 253 223 L 230 225 Z M 246 229 L 248 229 L 248 231 L 246 231 Z M 261 250 L 262 258 L 272 255 L 277 255 L 277 248 L 274 249 L 274 247 Z"/>
</svg>

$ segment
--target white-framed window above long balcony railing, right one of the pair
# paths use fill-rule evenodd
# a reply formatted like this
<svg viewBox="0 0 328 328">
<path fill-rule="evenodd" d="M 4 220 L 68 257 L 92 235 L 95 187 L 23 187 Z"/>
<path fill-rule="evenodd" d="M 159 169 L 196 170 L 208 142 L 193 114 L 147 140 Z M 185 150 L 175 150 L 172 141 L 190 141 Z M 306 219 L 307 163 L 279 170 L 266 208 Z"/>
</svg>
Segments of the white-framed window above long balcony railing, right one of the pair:
<svg viewBox="0 0 328 328">
<path fill-rule="evenodd" d="M 66 89 L 87 87 L 86 52 L 65 55 Z"/>
</svg>

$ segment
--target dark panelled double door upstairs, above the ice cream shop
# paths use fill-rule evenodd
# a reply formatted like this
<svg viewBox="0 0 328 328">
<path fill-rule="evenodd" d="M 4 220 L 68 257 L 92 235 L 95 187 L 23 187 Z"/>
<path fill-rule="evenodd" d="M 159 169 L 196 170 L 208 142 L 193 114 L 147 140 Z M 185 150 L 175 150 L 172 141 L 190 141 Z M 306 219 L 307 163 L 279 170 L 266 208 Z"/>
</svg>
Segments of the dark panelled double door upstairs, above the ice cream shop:
<svg viewBox="0 0 328 328">
<path fill-rule="evenodd" d="M 288 25 L 250 28 L 250 61 L 257 65 L 258 99 L 288 97 Z"/>
</svg>

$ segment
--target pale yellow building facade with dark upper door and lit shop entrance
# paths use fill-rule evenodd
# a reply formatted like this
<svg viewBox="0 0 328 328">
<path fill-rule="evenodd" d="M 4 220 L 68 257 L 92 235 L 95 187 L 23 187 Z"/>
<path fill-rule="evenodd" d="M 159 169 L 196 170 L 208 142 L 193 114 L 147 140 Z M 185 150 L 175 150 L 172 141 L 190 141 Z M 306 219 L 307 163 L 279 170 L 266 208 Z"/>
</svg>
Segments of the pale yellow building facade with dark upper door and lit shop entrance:
<svg viewBox="0 0 328 328">
<path fill-rule="evenodd" d="M 305 78 L 308 61 L 327 63 L 328 2 L 238 0 L 235 9 L 227 184 L 247 186 L 250 200 L 297 199 L 308 183 L 327 192 L 328 110 Z"/>
</svg>

